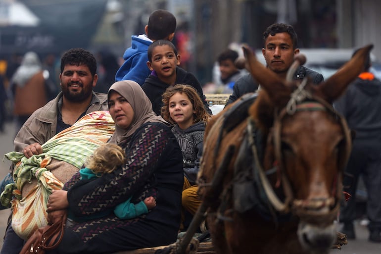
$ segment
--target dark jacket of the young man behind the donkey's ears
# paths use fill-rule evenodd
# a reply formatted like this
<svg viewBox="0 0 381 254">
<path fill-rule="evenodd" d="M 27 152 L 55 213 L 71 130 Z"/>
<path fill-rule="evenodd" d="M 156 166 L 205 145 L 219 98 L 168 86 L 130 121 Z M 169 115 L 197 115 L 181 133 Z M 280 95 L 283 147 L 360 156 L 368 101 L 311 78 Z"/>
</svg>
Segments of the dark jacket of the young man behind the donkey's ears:
<svg viewBox="0 0 381 254">
<path fill-rule="evenodd" d="M 294 74 L 294 79 L 295 80 L 303 79 L 306 76 L 310 77 L 314 84 L 319 84 L 320 82 L 324 80 L 322 74 L 316 71 L 310 70 L 304 66 L 300 66 L 298 68 L 298 70 Z M 237 80 L 236 84 L 234 85 L 233 94 L 229 97 L 229 100 L 228 102 L 226 102 L 226 105 L 237 101 L 237 99 L 244 94 L 253 93 L 257 91 L 258 86 L 259 86 L 258 82 L 254 81 L 250 73 L 242 76 L 241 78 Z"/>
</svg>

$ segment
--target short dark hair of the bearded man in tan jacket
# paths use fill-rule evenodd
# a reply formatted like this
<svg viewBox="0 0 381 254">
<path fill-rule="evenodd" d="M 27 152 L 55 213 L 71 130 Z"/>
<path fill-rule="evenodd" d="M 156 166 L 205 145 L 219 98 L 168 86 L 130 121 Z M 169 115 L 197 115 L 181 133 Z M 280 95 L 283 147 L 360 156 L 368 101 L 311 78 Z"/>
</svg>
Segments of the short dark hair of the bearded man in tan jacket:
<svg viewBox="0 0 381 254">
<path fill-rule="evenodd" d="M 61 73 L 66 64 L 70 65 L 86 65 L 90 69 L 92 76 L 96 73 L 95 56 L 82 48 L 74 48 L 66 51 L 61 57 Z"/>
</svg>

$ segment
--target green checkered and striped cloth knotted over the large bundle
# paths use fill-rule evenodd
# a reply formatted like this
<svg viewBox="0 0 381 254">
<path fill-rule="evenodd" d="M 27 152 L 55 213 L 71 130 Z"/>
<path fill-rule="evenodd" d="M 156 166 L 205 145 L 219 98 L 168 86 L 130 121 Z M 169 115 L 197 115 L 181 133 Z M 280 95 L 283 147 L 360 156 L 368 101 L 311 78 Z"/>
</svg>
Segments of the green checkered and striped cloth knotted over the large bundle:
<svg viewBox="0 0 381 254">
<path fill-rule="evenodd" d="M 14 184 L 5 186 L 0 201 L 9 206 L 13 197 L 21 199 L 21 190 L 32 178 L 39 180 L 47 170 L 50 158 L 66 161 L 81 168 L 88 156 L 101 143 L 107 142 L 115 130 L 115 124 L 108 111 L 95 111 L 85 115 L 73 126 L 58 133 L 42 145 L 43 153 L 30 158 L 21 152 L 9 152 L 4 156 L 16 166 L 13 171 Z M 15 192 L 14 190 L 19 190 Z"/>
</svg>

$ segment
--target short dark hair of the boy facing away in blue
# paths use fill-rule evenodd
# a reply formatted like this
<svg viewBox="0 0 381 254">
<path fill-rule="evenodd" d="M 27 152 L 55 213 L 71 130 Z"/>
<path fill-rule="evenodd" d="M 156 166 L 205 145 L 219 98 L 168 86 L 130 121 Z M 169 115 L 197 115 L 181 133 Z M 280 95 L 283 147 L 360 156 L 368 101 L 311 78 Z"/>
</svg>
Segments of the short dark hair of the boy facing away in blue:
<svg viewBox="0 0 381 254">
<path fill-rule="evenodd" d="M 169 11 L 155 10 L 149 15 L 147 30 L 152 41 L 167 39 L 176 30 L 176 18 Z"/>
</svg>

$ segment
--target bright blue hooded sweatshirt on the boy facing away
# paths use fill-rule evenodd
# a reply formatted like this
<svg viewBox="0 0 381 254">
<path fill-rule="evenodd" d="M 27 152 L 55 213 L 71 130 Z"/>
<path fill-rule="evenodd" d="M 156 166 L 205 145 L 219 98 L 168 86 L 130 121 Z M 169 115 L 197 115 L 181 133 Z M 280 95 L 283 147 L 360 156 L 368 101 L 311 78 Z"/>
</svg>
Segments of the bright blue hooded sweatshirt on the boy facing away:
<svg viewBox="0 0 381 254">
<path fill-rule="evenodd" d="M 115 81 L 133 80 L 142 86 L 151 73 L 147 66 L 147 51 L 152 41 L 145 35 L 133 35 L 131 39 L 131 47 L 123 54 L 124 63 L 116 72 Z"/>
</svg>

